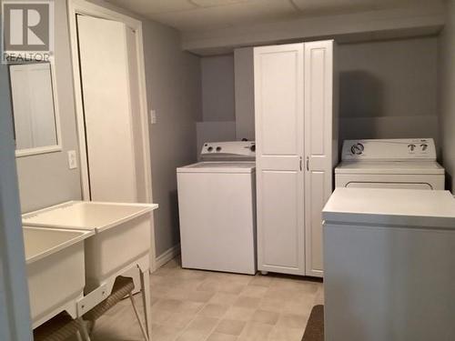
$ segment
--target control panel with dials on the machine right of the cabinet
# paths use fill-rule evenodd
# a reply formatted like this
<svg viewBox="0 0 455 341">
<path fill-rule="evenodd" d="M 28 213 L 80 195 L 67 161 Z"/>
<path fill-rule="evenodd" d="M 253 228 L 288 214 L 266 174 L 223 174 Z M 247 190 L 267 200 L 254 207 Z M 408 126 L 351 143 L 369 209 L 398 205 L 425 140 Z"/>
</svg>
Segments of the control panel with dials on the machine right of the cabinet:
<svg viewBox="0 0 455 341">
<path fill-rule="evenodd" d="M 436 146 L 432 138 L 345 140 L 341 159 L 343 161 L 436 161 Z"/>
</svg>

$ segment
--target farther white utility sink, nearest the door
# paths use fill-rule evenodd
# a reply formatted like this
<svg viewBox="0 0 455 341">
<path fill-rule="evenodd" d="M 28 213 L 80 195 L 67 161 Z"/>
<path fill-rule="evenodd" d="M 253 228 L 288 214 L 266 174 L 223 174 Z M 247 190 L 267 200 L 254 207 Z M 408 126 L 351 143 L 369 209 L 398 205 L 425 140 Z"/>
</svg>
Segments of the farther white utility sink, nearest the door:
<svg viewBox="0 0 455 341">
<path fill-rule="evenodd" d="M 147 256 L 151 212 L 157 204 L 70 201 L 23 216 L 23 224 L 56 229 L 86 230 L 86 292 L 119 270 Z"/>
</svg>

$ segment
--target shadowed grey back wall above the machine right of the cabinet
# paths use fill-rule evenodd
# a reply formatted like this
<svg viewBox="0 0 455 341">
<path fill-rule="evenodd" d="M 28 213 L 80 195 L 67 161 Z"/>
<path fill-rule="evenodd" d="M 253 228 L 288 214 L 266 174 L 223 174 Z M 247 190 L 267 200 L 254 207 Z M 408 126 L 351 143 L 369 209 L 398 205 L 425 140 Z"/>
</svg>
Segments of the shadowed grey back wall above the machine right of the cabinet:
<svg viewBox="0 0 455 341">
<path fill-rule="evenodd" d="M 340 139 L 433 137 L 436 37 L 339 45 Z"/>
</svg>

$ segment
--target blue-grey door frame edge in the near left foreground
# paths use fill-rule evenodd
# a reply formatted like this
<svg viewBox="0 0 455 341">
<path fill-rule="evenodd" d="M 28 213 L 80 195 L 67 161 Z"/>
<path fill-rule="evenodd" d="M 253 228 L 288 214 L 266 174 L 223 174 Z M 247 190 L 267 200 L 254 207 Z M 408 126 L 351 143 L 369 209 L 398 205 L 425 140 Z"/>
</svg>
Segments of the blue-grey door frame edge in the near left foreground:
<svg viewBox="0 0 455 341">
<path fill-rule="evenodd" d="M 9 101 L 6 65 L 0 65 L 0 97 Z M 0 339 L 31 340 L 32 324 L 25 266 L 24 236 L 15 165 L 13 113 L 0 115 Z"/>
</svg>

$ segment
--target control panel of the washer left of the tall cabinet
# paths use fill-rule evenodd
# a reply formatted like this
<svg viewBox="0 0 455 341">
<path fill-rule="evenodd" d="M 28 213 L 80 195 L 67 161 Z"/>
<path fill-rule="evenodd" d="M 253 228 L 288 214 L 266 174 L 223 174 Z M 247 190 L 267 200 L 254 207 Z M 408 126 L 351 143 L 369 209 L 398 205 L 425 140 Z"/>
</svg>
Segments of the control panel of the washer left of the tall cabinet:
<svg viewBox="0 0 455 341">
<path fill-rule="evenodd" d="M 203 160 L 255 160 L 254 141 L 206 142 L 200 156 Z"/>
</svg>

